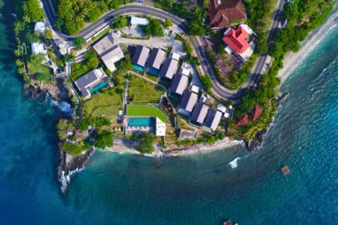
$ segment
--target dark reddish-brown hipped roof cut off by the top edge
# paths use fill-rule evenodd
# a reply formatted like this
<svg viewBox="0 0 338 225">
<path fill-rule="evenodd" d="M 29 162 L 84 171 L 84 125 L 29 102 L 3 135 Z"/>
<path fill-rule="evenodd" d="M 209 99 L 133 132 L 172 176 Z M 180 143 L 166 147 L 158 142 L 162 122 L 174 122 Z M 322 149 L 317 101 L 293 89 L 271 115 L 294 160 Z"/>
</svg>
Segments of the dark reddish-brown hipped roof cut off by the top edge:
<svg viewBox="0 0 338 225">
<path fill-rule="evenodd" d="M 242 0 L 211 0 L 208 14 L 210 24 L 218 29 L 229 26 L 231 20 L 246 19 Z"/>
</svg>

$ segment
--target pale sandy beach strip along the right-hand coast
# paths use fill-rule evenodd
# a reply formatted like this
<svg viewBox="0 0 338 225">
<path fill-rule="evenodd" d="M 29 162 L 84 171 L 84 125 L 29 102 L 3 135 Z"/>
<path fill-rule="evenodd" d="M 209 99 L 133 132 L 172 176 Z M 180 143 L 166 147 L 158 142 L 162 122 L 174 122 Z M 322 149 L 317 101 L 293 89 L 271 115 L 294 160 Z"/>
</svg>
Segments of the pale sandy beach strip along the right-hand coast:
<svg viewBox="0 0 338 225">
<path fill-rule="evenodd" d="M 280 78 L 281 82 L 284 82 L 287 77 L 292 73 L 294 68 L 301 63 L 301 61 L 308 56 L 315 46 L 320 42 L 325 35 L 330 32 L 334 27 L 338 25 L 338 4 L 334 5 L 332 13 L 327 18 L 325 23 L 318 27 L 317 30 L 311 32 L 308 37 L 301 42 L 301 50 L 298 52 L 290 52 L 284 57 L 284 67 L 278 72 L 277 77 Z"/>
</svg>

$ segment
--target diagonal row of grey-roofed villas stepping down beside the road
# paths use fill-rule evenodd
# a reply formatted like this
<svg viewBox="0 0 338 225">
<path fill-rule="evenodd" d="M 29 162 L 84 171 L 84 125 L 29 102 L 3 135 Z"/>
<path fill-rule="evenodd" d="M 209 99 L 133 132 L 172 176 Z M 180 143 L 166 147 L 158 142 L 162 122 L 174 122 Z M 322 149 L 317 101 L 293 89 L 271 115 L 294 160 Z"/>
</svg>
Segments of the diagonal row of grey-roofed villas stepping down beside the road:
<svg viewBox="0 0 338 225">
<path fill-rule="evenodd" d="M 180 115 L 187 117 L 195 127 L 213 133 L 223 118 L 227 119 L 232 115 L 232 107 L 227 109 L 219 105 L 217 109 L 213 109 L 205 105 L 205 98 L 199 99 L 201 89 L 194 84 L 189 84 L 190 70 L 184 67 L 178 70 L 178 60 L 175 53 L 165 58 L 165 51 L 158 48 L 149 49 L 145 46 L 137 46 L 132 57 L 134 70 L 149 72 L 169 84 L 167 89 L 169 96 L 178 98 L 180 102 L 177 106 Z"/>
</svg>

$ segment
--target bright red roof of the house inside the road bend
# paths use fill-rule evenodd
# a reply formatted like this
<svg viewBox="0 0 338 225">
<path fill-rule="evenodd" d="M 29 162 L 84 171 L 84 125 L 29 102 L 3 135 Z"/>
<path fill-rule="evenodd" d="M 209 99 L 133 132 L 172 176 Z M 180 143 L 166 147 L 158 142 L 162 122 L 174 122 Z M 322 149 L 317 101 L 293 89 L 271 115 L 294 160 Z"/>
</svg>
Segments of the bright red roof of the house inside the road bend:
<svg viewBox="0 0 338 225">
<path fill-rule="evenodd" d="M 244 53 L 246 49 L 249 49 L 250 44 L 248 39 L 249 34 L 243 27 L 238 27 L 236 30 L 230 28 L 223 37 L 224 43 L 239 54 Z"/>
</svg>

